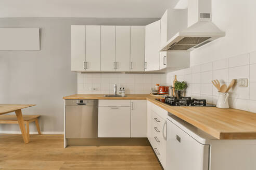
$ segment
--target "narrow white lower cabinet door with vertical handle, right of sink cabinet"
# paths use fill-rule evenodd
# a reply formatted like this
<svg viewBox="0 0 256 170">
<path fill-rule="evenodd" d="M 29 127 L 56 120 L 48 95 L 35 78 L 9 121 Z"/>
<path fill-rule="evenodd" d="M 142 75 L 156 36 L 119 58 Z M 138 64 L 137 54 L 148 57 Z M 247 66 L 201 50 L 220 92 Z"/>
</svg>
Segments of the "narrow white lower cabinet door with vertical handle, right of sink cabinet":
<svg viewBox="0 0 256 170">
<path fill-rule="evenodd" d="M 131 101 L 131 137 L 147 137 L 147 101 Z"/>
</svg>

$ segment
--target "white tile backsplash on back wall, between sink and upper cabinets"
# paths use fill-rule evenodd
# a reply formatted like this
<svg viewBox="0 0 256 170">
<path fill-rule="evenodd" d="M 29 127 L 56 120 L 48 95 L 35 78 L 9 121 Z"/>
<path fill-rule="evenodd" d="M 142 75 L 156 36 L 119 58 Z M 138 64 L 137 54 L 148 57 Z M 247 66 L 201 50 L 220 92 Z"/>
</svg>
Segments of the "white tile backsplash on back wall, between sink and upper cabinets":
<svg viewBox="0 0 256 170">
<path fill-rule="evenodd" d="M 124 87 L 126 94 L 149 94 L 156 83 L 166 82 L 167 74 L 78 73 L 78 94 L 113 94 L 114 84 L 118 90 Z"/>
</svg>

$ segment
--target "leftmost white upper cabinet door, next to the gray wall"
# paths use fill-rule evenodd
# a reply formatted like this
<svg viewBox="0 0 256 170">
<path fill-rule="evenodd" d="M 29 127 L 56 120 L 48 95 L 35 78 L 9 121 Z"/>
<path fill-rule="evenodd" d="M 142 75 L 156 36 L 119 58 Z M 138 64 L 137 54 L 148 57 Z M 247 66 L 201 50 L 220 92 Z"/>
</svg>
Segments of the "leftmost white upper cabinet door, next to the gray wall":
<svg viewBox="0 0 256 170">
<path fill-rule="evenodd" d="M 85 70 L 85 25 L 71 25 L 71 71 Z"/>
</svg>

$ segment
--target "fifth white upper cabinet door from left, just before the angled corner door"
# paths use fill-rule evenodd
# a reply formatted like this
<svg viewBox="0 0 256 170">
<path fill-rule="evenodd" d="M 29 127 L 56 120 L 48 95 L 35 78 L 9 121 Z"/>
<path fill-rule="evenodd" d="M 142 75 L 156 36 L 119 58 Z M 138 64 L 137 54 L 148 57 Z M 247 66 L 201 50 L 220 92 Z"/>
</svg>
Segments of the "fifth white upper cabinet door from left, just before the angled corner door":
<svg viewBox="0 0 256 170">
<path fill-rule="evenodd" d="M 145 26 L 131 26 L 131 71 L 145 70 Z"/>
</svg>

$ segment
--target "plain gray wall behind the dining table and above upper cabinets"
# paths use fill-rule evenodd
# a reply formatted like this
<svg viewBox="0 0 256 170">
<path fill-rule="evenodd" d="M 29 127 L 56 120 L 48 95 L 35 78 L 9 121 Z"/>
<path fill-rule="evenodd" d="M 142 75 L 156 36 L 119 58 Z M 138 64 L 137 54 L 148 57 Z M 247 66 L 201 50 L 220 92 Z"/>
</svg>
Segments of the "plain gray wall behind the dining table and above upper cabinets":
<svg viewBox="0 0 256 170">
<path fill-rule="evenodd" d="M 40 51 L 0 51 L 0 103 L 36 104 L 24 114 L 39 114 L 41 131 L 63 131 L 63 96 L 77 92 L 70 71 L 70 25 L 146 25 L 142 18 L 1 18 L 0 27 L 40 27 Z M 13 114 L 13 113 L 12 113 Z M 19 131 L 0 124 L 0 131 Z M 36 131 L 34 124 L 31 131 Z"/>
</svg>

